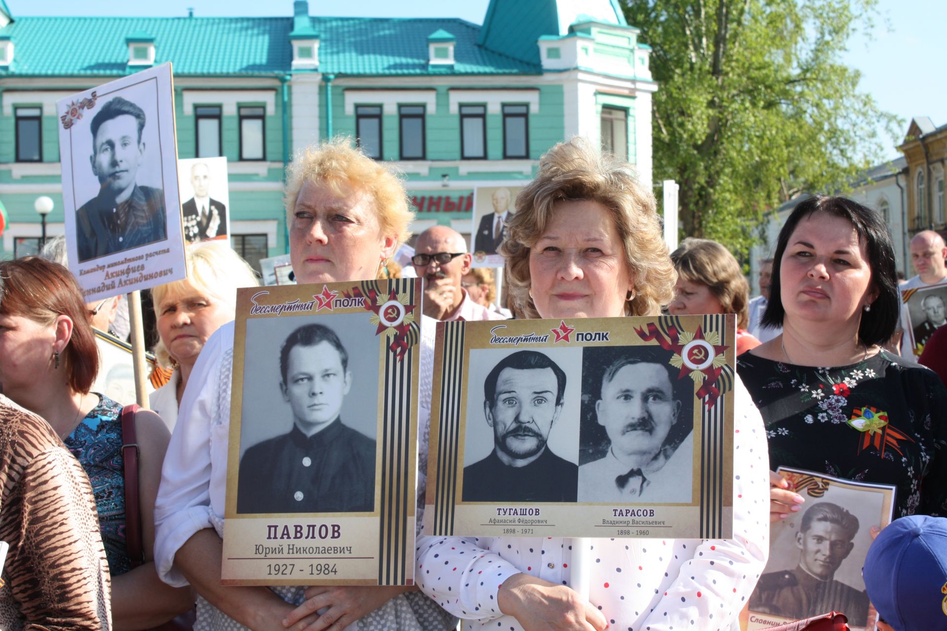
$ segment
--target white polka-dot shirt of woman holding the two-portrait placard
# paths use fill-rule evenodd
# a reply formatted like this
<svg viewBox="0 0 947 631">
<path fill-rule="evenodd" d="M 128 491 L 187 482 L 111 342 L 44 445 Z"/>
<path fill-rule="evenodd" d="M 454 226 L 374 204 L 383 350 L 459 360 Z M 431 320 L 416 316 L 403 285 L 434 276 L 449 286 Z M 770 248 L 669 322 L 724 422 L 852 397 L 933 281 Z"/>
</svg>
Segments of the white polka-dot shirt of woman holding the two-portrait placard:
<svg viewBox="0 0 947 631">
<path fill-rule="evenodd" d="M 735 381 L 734 539 L 588 539 L 594 563 L 589 600 L 613 628 L 739 628 L 737 616 L 769 553 L 770 484 L 762 419 L 740 378 Z M 519 572 L 569 585 L 573 541 L 422 537 L 415 582 L 459 616 L 466 631 L 521 631 L 500 612 L 499 587 Z"/>
</svg>

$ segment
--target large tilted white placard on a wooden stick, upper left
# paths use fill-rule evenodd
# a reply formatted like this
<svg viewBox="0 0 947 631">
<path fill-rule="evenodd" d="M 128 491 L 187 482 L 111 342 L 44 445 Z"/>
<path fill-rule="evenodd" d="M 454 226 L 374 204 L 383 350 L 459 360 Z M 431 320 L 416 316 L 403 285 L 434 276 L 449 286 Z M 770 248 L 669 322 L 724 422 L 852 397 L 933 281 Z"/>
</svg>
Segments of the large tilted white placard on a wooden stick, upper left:
<svg viewBox="0 0 947 631">
<path fill-rule="evenodd" d="M 171 64 L 57 108 L 69 269 L 85 301 L 185 278 Z"/>
</svg>

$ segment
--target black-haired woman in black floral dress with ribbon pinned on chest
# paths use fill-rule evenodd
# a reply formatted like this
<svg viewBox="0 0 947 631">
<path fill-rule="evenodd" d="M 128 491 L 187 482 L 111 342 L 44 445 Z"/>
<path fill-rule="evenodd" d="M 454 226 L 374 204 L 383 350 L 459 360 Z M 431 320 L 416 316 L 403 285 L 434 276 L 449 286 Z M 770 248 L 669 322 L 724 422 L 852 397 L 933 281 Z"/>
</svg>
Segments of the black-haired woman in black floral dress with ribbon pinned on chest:
<svg viewBox="0 0 947 631">
<path fill-rule="evenodd" d="M 762 322 L 782 335 L 737 362 L 766 424 L 771 468 L 896 484 L 895 517 L 944 514 L 947 390 L 879 345 L 901 302 L 882 218 L 843 197 L 813 197 L 786 220 L 774 258 Z M 771 478 L 777 521 L 803 499 Z"/>
</svg>

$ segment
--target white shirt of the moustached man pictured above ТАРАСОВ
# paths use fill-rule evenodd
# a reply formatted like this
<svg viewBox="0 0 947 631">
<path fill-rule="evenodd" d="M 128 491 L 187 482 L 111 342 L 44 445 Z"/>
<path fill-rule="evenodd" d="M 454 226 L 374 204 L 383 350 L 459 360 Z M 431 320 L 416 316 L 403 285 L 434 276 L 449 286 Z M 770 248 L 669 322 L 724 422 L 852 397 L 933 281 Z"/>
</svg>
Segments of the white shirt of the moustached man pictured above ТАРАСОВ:
<svg viewBox="0 0 947 631">
<path fill-rule="evenodd" d="M 633 478 L 625 488 L 619 488 L 615 479 L 627 474 L 630 467 L 619 462 L 609 449 L 604 458 L 579 467 L 579 501 L 689 503 L 693 451 L 694 432 L 691 431 L 670 458 L 659 461 L 659 468 L 649 471 L 645 467 L 644 480 L 648 483 L 644 488 L 641 488 L 641 478 Z"/>
</svg>

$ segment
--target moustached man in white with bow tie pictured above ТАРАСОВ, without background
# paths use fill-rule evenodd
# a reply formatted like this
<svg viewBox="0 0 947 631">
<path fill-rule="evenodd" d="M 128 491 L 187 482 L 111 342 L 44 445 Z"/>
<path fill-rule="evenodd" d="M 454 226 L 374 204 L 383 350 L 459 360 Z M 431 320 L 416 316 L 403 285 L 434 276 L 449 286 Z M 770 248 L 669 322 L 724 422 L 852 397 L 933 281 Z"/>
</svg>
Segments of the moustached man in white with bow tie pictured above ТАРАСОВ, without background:
<svg viewBox="0 0 947 631">
<path fill-rule="evenodd" d="M 595 412 L 610 446 L 579 467 L 580 501 L 691 501 L 691 406 L 683 387 L 675 392 L 671 369 L 650 349 L 633 347 L 605 370 Z"/>
</svg>

